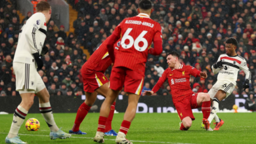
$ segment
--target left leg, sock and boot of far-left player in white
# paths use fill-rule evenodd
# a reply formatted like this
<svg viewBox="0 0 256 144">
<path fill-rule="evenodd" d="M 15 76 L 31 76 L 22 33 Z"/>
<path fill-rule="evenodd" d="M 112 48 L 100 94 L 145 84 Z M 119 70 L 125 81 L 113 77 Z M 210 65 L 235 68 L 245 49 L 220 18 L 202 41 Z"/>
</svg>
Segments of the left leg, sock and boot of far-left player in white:
<svg viewBox="0 0 256 144">
<path fill-rule="evenodd" d="M 20 140 L 20 137 L 18 137 L 18 131 L 20 130 L 20 126 L 23 124 L 28 114 L 30 107 L 33 105 L 34 95 L 35 93 L 21 94 L 20 92 L 22 102 L 14 111 L 12 126 L 9 134 L 5 138 L 5 143 L 25 143 L 24 141 Z"/>
</svg>

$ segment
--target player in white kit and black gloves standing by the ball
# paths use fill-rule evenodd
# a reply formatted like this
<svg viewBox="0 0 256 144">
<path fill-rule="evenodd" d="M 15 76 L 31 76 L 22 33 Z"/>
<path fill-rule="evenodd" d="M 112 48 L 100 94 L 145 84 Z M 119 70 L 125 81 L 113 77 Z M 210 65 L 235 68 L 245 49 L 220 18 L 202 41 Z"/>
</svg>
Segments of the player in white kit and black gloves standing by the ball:
<svg viewBox="0 0 256 144">
<path fill-rule="evenodd" d="M 56 126 L 49 102 L 49 92 L 37 73 L 37 68 L 43 67 L 40 55 L 43 56 L 48 52 L 48 48 L 43 46 L 43 43 L 46 37 L 46 23 L 51 18 L 51 6 L 46 1 L 40 1 L 37 3 L 36 10 L 37 13 L 28 19 L 20 31 L 13 60 L 16 91 L 20 93 L 22 101 L 14 112 L 11 130 L 5 139 L 6 143 L 25 143 L 18 137 L 18 130 L 33 105 L 35 94 L 39 98 L 40 112 L 51 130 L 50 138 L 66 139 L 66 137 L 71 137 L 70 134 L 62 132 Z"/>
</svg>

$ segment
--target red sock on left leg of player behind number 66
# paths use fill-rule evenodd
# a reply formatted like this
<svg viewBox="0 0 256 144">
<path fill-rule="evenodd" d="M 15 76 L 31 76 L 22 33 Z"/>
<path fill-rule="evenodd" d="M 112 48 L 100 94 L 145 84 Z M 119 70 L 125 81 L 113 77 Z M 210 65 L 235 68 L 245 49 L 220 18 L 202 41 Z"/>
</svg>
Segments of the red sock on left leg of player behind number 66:
<svg viewBox="0 0 256 144">
<path fill-rule="evenodd" d="M 73 132 L 77 132 L 79 130 L 81 122 L 83 122 L 83 119 L 90 109 L 91 107 L 86 105 L 84 102 L 80 105 L 79 109 L 77 110 L 74 126 L 72 128 Z"/>
</svg>

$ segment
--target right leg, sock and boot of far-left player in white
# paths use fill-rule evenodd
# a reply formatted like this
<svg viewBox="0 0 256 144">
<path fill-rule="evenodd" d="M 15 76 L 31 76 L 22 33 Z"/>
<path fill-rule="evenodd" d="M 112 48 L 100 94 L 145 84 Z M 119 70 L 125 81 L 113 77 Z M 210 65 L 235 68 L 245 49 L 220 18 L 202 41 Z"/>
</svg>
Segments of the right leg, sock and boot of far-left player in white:
<svg viewBox="0 0 256 144">
<path fill-rule="evenodd" d="M 67 134 L 60 130 L 58 126 L 56 125 L 54 118 L 53 118 L 53 111 L 51 108 L 51 104 L 49 102 L 49 92 L 46 88 L 43 88 L 40 92 L 37 92 L 37 97 L 39 98 L 39 110 L 43 118 L 45 118 L 45 122 L 49 126 L 51 132 L 50 132 L 50 138 L 51 139 L 66 139 L 71 137 L 70 134 Z"/>
</svg>

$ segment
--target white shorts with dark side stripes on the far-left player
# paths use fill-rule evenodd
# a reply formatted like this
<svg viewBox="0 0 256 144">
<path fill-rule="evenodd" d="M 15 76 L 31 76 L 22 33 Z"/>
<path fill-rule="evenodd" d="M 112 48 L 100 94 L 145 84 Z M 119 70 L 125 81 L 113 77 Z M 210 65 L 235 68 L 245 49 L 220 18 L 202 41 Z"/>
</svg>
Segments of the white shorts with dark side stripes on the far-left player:
<svg viewBox="0 0 256 144">
<path fill-rule="evenodd" d="M 37 93 L 45 88 L 45 83 L 41 79 L 35 63 L 13 63 L 14 73 L 16 75 L 16 91 L 20 94 Z"/>
</svg>

